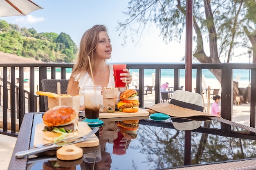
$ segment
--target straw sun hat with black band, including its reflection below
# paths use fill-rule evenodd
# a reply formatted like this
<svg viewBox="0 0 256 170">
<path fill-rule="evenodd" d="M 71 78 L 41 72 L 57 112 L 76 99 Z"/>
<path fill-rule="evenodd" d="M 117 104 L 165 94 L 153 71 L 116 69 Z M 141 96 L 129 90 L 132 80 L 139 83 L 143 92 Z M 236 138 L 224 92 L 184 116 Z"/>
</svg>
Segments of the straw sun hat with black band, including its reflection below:
<svg viewBox="0 0 256 170">
<path fill-rule="evenodd" d="M 173 93 L 169 104 L 159 103 L 153 106 L 148 106 L 147 108 L 151 109 L 149 110 L 150 113 L 154 110 L 175 117 L 171 119 L 173 121 L 173 126 L 178 130 L 193 130 L 201 126 L 202 121 L 189 120 L 190 117 L 195 119 L 196 116 L 213 116 L 204 113 L 202 96 L 200 94 L 181 90 L 176 90 Z"/>
</svg>

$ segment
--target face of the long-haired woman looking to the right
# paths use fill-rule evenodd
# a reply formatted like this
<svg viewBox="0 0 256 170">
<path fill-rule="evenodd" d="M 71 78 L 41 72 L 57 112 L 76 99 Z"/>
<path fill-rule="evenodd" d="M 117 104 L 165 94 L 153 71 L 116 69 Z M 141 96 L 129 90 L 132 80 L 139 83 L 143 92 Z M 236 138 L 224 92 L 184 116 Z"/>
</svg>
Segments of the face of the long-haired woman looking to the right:
<svg viewBox="0 0 256 170">
<path fill-rule="evenodd" d="M 96 56 L 99 59 L 106 60 L 111 57 L 112 46 L 110 38 L 105 31 L 99 32 L 99 42 L 96 46 Z"/>
</svg>

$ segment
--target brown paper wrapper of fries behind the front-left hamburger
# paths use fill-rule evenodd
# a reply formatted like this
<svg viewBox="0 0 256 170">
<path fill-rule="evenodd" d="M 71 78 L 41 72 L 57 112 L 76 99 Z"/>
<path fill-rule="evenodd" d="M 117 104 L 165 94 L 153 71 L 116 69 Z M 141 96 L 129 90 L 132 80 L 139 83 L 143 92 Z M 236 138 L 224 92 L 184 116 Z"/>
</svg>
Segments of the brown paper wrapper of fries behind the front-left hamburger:
<svg viewBox="0 0 256 170">
<path fill-rule="evenodd" d="M 66 94 L 61 94 L 61 96 Z M 78 125 L 79 120 L 79 107 L 81 95 L 70 95 L 72 97 L 61 97 L 61 106 L 70 106 L 76 111 L 75 122 Z M 59 106 L 59 98 L 48 97 L 48 108 Z"/>
</svg>

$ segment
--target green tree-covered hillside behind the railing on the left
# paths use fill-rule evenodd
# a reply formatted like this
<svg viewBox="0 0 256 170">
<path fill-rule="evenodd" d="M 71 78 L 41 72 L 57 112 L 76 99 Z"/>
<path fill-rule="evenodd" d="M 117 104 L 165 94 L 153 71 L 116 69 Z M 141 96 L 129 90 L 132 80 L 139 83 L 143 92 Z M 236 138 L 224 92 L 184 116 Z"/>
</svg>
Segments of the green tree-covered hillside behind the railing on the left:
<svg viewBox="0 0 256 170">
<path fill-rule="evenodd" d="M 78 48 L 66 33 L 37 33 L 0 20 L 0 51 L 42 62 L 72 63 Z"/>
</svg>

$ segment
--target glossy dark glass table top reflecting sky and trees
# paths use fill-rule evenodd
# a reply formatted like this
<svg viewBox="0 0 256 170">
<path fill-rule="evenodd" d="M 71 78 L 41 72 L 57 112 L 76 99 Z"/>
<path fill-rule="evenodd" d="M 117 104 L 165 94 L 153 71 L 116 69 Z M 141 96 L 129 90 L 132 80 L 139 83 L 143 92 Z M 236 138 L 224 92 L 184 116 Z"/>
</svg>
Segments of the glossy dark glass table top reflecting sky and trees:
<svg viewBox="0 0 256 170">
<path fill-rule="evenodd" d="M 139 120 L 139 127 L 133 132 L 122 130 L 117 121 L 104 121 L 97 133 L 100 149 L 95 148 L 100 150 L 100 161 L 83 161 L 88 150 L 83 148 L 84 157 L 74 161 L 61 161 L 56 155 L 31 156 L 27 170 L 42 170 L 46 166 L 76 170 L 158 170 L 184 166 L 185 131 L 173 128 L 171 122 L 171 118 Z M 33 126 L 39 123 L 41 115 L 34 115 Z M 191 132 L 191 165 L 256 158 L 255 135 L 233 126 L 231 129 L 240 131 L 238 134 L 220 132 L 221 124 L 215 120 L 202 121 L 202 127 Z M 124 137 L 124 132 L 132 134 Z M 32 130 L 31 145 L 33 133 Z"/>
</svg>

